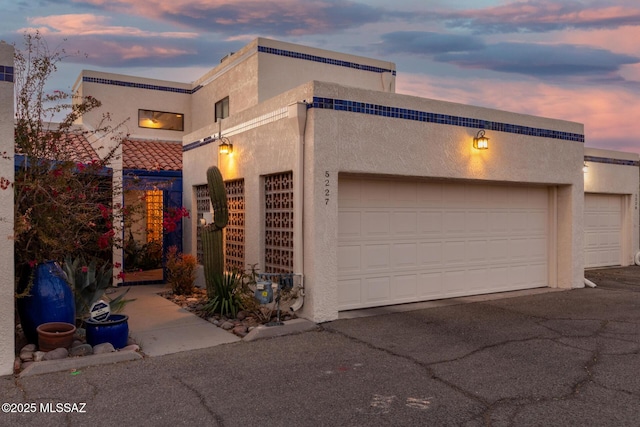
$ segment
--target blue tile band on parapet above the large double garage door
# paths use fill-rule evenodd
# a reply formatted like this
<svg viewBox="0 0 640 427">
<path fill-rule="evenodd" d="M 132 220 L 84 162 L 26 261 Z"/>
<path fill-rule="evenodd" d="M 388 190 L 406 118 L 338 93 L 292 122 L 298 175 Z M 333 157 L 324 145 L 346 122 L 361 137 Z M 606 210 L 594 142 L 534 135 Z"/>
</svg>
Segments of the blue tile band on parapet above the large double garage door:
<svg viewBox="0 0 640 427">
<path fill-rule="evenodd" d="M 374 116 L 393 117 L 426 123 L 439 123 L 451 126 L 494 130 L 498 132 L 516 133 L 519 135 L 538 136 L 542 138 L 561 139 L 565 141 L 584 143 L 584 135 L 578 133 L 532 128 L 509 123 L 492 122 L 488 120 L 473 119 L 470 117 L 451 116 L 448 114 L 430 113 L 427 111 L 410 110 L 407 108 L 390 107 L 387 105 L 368 104 L 365 102 L 349 101 L 344 99 L 321 98 L 314 96 L 313 103 L 307 104 L 307 108 L 352 111 L 355 113 L 371 114 Z"/>
</svg>

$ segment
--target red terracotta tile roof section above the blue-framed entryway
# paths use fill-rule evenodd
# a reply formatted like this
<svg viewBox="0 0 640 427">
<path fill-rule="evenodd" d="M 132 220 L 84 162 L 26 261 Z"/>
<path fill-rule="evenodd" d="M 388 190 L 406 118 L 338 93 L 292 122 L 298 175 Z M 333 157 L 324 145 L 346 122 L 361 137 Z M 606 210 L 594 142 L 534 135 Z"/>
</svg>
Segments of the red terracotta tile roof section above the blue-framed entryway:
<svg viewBox="0 0 640 427">
<path fill-rule="evenodd" d="M 182 170 L 182 143 L 127 139 L 122 144 L 122 167 L 161 171 Z"/>
</svg>

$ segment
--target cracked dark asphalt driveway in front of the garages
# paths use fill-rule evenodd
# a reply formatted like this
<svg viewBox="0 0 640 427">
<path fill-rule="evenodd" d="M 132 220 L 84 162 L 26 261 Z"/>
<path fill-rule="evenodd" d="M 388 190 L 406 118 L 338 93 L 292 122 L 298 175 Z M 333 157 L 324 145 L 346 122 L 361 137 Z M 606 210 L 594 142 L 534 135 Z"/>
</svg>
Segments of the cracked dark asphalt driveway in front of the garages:
<svg viewBox="0 0 640 427">
<path fill-rule="evenodd" d="M 596 276 L 597 275 L 597 276 Z M 596 288 L 345 319 L 318 331 L 27 378 L 3 424 L 636 426 L 640 267 Z M 114 418 L 115 416 L 115 418 Z"/>
</svg>

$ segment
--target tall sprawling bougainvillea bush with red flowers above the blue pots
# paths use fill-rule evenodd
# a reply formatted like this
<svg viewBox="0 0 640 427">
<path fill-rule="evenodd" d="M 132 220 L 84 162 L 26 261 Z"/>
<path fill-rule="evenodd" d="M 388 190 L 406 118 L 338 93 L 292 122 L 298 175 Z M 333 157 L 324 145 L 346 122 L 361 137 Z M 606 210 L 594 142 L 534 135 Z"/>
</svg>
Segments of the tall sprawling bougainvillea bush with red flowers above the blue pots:
<svg viewBox="0 0 640 427">
<path fill-rule="evenodd" d="M 97 257 L 110 263 L 123 215 L 113 203 L 120 189 L 110 165 L 125 135 L 110 124 L 88 131 L 74 123 L 100 101 L 61 91 L 45 82 L 64 50 L 50 51 L 39 33 L 26 34 L 15 54 L 15 262 L 25 266 L 65 257 Z M 88 145 L 91 142 L 91 146 Z M 101 158 L 95 152 L 104 153 Z M 28 271 L 28 268 L 26 269 Z"/>
</svg>

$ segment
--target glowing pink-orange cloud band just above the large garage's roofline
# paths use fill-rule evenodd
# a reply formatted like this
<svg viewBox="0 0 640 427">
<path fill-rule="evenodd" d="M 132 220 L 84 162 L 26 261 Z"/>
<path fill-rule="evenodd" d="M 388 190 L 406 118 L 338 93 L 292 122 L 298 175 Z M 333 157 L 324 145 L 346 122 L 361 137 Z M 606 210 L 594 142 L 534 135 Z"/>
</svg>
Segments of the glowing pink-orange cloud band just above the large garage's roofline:
<svg viewBox="0 0 640 427">
<path fill-rule="evenodd" d="M 398 76 L 397 92 L 583 123 L 585 145 L 640 153 L 640 97 L 622 87 L 557 87 L 545 83 Z M 508 96 L 506 95 L 508 94 Z"/>
</svg>

